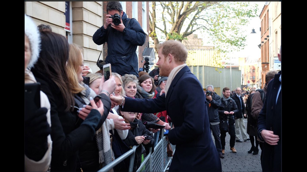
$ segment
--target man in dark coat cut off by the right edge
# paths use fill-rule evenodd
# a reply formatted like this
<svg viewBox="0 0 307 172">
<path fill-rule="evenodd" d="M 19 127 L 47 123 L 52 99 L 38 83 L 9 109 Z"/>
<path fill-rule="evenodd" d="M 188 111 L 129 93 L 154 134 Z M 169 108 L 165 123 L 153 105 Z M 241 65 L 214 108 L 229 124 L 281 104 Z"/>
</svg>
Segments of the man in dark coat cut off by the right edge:
<svg viewBox="0 0 307 172">
<path fill-rule="evenodd" d="M 278 60 L 281 61 L 281 46 Z M 268 83 L 263 108 L 258 116 L 258 138 L 264 142 L 262 171 L 282 171 L 281 167 L 281 71 Z"/>
</svg>

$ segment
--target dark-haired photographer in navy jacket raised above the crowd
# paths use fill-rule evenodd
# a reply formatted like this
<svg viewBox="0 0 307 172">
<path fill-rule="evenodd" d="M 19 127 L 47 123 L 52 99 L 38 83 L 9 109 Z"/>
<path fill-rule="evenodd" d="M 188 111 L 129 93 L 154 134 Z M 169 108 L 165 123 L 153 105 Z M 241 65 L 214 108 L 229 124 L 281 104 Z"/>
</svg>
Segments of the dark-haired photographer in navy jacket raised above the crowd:
<svg viewBox="0 0 307 172">
<path fill-rule="evenodd" d="M 105 62 L 110 63 L 112 71 L 121 76 L 138 76 L 136 49 L 145 43 L 145 32 L 136 19 L 127 18 L 119 2 L 108 2 L 105 20 L 104 25 L 93 35 L 97 45 L 107 42 L 108 55 Z"/>
</svg>

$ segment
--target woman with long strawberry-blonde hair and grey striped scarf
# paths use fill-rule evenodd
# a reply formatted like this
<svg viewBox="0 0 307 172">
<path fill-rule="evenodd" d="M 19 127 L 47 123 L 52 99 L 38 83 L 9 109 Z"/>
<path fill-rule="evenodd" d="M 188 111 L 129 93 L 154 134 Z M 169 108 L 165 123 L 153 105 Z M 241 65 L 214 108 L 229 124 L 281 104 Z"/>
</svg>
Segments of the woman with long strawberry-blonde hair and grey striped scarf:
<svg viewBox="0 0 307 172">
<path fill-rule="evenodd" d="M 86 120 L 92 109 L 92 107 L 88 105 L 89 97 L 96 97 L 96 93 L 88 85 L 82 82 L 83 69 L 84 63 L 81 49 L 76 44 L 70 44 L 69 59 L 67 63 L 69 83 L 75 94 L 75 102 L 78 103 L 78 116 L 82 120 Z M 114 84 L 108 85 L 109 83 Z M 97 127 L 95 128 L 95 137 L 93 140 L 88 141 L 79 150 L 79 161 L 77 167 L 84 171 L 98 171 L 103 164 L 108 164 L 112 161 L 110 138 L 108 134 L 110 125 L 107 116 L 111 108 L 109 106 L 110 101 L 108 95 L 114 91 L 114 78 L 111 77 L 108 81 L 102 82 L 100 88 L 100 90 L 103 91 L 100 94 L 101 101 L 103 101 L 104 105 L 106 104 L 108 106 L 104 107 L 104 115 L 101 117 Z M 80 122 L 82 122 L 82 120 L 80 120 Z M 104 146 L 105 142 L 107 143 L 106 146 Z"/>
</svg>

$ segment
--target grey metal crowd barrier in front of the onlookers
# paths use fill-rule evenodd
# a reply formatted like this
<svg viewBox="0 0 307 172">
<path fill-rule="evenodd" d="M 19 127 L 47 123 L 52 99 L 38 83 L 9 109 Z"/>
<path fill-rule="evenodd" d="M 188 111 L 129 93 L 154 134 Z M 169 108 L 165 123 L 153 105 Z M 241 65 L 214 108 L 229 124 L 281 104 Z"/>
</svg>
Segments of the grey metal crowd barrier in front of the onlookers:
<svg viewBox="0 0 307 172">
<path fill-rule="evenodd" d="M 159 140 L 158 144 L 154 147 L 154 152 L 152 154 L 151 154 L 151 148 L 149 149 L 149 154 L 144 158 L 143 162 L 141 163 L 137 171 L 141 171 L 141 172 L 166 171 L 168 165 L 172 161 L 172 157 L 167 156 L 166 147 L 167 147 L 168 142 L 166 140 L 166 136 L 163 135 L 163 132 L 160 138 L 163 138 L 163 139 Z M 135 150 L 138 146 L 133 146 L 131 150 L 127 151 L 125 154 L 118 157 L 117 159 L 112 161 L 110 164 L 104 166 L 99 171 L 111 170 L 113 167 L 119 164 L 122 160 L 126 159 L 128 156 L 130 156 L 129 171 L 132 171 Z M 173 152 L 175 152 L 176 146 L 171 144 L 171 147 L 173 149 Z"/>
</svg>

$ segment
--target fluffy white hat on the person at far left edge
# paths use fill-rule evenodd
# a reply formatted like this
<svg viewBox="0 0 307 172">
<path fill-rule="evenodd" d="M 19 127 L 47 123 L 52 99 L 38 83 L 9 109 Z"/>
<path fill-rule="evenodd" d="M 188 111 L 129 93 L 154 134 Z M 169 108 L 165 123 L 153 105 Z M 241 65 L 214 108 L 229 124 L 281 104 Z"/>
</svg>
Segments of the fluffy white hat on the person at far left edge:
<svg viewBox="0 0 307 172">
<path fill-rule="evenodd" d="M 39 58 L 40 52 L 40 35 L 37 26 L 31 17 L 24 14 L 24 34 L 28 37 L 31 48 L 31 59 L 28 68 L 31 69 Z"/>
</svg>

